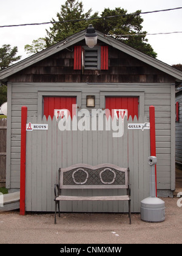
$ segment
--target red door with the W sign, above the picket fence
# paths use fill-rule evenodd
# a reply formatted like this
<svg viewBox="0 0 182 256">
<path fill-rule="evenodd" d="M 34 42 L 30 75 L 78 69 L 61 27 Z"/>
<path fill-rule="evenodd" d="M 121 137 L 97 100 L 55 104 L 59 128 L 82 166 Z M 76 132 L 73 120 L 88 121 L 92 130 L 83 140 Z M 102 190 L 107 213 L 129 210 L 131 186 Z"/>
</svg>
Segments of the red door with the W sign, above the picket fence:
<svg viewBox="0 0 182 256">
<path fill-rule="evenodd" d="M 106 98 L 106 109 L 113 116 L 114 109 L 127 109 L 127 117 L 138 118 L 138 98 Z"/>
</svg>

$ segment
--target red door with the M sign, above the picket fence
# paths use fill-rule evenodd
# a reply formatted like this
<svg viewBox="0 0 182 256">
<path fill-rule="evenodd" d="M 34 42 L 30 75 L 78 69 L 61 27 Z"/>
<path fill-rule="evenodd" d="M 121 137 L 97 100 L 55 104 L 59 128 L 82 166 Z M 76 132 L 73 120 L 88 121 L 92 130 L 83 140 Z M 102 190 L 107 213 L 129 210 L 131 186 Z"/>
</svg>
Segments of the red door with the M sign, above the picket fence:
<svg viewBox="0 0 182 256">
<path fill-rule="evenodd" d="M 55 109 L 67 109 L 72 117 L 72 105 L 76 104 L 76 97 L 44 97 L 44 115 L 51 118 L 55 115 Z"/>
</svg>

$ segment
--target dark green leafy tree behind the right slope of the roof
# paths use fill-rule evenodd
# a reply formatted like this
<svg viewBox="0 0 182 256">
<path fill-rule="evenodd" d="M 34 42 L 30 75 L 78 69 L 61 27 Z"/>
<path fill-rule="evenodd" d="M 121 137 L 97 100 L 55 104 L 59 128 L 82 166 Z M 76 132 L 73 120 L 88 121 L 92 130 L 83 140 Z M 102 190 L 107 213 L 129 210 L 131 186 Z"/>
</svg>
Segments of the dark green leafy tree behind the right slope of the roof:
<svg viewBox="0 0 182 256">
<path fill-rule="evenodd" d="M 101 13 L 101 17 L 115 17 L 93 20 L 92 24 L 95 29 L 103 34 L 110 35 L 130 47 L 156 58 L 157 53 L 147 43 L 147 32 L 142 31 L 143 26 L 141 26 L 141 23 L 143 23 L 143 18 L 141 18 L 140 12 L 141 10 L 137 10 L 135 12 L 138 13 L 137 15 L 133 15 L 134 13 L 128 15 L 127 10 L 120 7 L 115 8 L 115 10 L 107 8 Z"/>
</svg>

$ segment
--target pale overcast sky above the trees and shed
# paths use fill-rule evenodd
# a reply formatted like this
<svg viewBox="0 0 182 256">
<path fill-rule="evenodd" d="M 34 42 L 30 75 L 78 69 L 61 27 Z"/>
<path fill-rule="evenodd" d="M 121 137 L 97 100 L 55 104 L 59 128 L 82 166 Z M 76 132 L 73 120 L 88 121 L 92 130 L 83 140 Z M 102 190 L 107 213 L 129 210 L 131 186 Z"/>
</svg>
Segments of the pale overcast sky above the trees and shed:
<svg viewBox="0 0 182 256">
<path fill-rule="evenodd" d="M 0 26 L 25 23 L 42 23 L 55 18 L 56 13 L 66 0 L 0 0 Z M 153 10 L 171 9 L 182 7 L 181 0 L 83 0 L 84 12 L 92 9 L 93 12 L 103 12 L 104 8 L 121 7 L 128 13 L 141 10 L 148 12 Z M 159 12 L 141 15 L 144 19 L 143 30 L 149 34 L 161 32 L 182 32 L 182 9 L 169 12 Z M 22 59 L 28 57 L 24 51 L 25 44 L 39 37 L 45 37 L 45 29 L 51 25 L 4 27 L 0 28 L 0 47 L 2 44 L 18 46 L 18 55 Z M 152 48 L 157 52 L 157 59 L 169 65 L 182 63 L 182 33 L 169 35 L 148 35 Z"/>
</svg>

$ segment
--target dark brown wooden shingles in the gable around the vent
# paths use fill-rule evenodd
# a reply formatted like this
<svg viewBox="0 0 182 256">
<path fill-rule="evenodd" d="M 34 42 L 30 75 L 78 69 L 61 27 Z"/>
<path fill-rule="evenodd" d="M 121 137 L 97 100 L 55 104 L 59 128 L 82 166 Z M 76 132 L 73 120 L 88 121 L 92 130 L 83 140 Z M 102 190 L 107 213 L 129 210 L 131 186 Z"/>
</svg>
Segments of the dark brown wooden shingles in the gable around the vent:
<svg viewBox="0 0 182 256">
<path fill-rule="evenodd" d="M 78 47 L 80 49 L 80 46 Z M 79 68 L 79 62 L 74 64 L 73 49 L 70 51 L 64 49 L 29 68 L 25 68 L 11 76 L 9 81 L 89 83 L 165 83 L 175 81 L 166 73 L 110 47 L 108 48 L 108 69 L 105 60 L 105 64 L 103 64 L 105 70 L 85 69 L 81 74 L 81 70 L 76 68 L 76 66 Z"/>
</svg>

